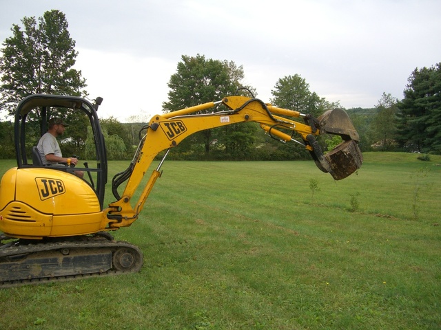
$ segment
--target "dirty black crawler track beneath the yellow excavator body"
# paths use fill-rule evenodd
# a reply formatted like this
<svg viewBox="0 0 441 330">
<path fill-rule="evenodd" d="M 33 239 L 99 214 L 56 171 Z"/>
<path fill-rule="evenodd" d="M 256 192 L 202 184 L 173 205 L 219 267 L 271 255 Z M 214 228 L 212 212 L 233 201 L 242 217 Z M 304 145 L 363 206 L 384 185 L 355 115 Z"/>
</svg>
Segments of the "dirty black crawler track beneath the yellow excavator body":
<svg viewBox="0 0 441 330">
<path fill-rule="evenodd" d="M 2 242 L 8 237 L 0 236 Z M 108 232 L 0 245 L 0 288 L 138 272 L 143 253 Z"/>
</svg>

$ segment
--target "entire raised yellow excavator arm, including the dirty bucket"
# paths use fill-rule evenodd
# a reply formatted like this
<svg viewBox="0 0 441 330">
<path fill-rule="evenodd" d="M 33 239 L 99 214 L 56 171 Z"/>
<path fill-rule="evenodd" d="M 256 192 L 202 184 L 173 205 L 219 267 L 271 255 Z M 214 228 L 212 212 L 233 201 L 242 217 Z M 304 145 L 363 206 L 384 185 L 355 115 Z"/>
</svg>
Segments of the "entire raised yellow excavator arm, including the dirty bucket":
<svg viewBox="0 0 441 330">
<path fill-rule="evenodd" d="M 209 113 L 200 112 L 216 108 L 220 104 L 227 109 Z M 293 119 L 301 117 L 304 118 L 305 123 Z M 159 172 L 161 166 L 153 171 L 138 201 L 133 201 L 132 205 L 131 200 L 145 174 L 145 168 L 150 166 L 158 153 L 178 146 L 185 137 L 198 131 L 240 122 L 258 122 L 269 135 L 283 142 L 293 141 L 293 135 L 299 135 L 302 140 L 299 143 L 311 153 L 318 168 L 330 173 L 336 180 L 351 175 L 362 164 L 358 133 L 349 116 L 342 109 L 327 111 L 322 118 L 316 119 L 298 111 L 273 107 L 256 98 L 229 96 L 218 102 L 208 102 L 164 115 L 154 115 L 132 161 L 130 173 L 124 174 L 128 181 L 122 195 L 119 195 L 114 187 L 117 201 L 111 203 L 106 211 L 109 228 L 116 229 L 130 225 L 138 217 L 156 179 L 161 175 Z M 322 153 L 320 144 L 316 141 L 316 136 L 325 133 L 340 135 L 344 140 L 334 151 L 326 155 Z"/>
</svg>

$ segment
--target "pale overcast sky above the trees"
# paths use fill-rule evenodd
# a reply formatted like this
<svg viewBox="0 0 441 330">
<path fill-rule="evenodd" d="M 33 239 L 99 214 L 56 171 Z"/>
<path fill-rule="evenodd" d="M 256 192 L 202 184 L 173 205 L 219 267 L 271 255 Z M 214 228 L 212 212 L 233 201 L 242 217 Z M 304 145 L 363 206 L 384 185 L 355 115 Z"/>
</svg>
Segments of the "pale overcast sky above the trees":
<svg viewBox="0 0 441 330">
<path fill-rule="evenodd" d="M 0 41 L 23 17 L 61 10 L 76 69 L 101 118 L 161 113 L 182 55 L 243 65 L 269 102 L 279 78 L 300 74 L 342 107 L 402 99 L 416 67 L 441 62 L 440 0 L 0 0 Z M 3 47 L 3 46 L 2 46 Z"/>
</svg>

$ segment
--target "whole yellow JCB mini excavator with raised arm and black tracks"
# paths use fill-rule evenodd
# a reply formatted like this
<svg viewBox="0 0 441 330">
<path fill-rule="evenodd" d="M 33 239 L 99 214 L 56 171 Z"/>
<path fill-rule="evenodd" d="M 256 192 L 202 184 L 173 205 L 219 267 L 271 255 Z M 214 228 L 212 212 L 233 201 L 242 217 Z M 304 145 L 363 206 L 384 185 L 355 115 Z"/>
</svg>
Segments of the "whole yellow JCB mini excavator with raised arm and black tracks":
<svg viewBox="0 0 441 330">
<path fill-rule="evenodd" d="M 138 219 L 156 179 L 161 177 L 168 151 L 198 131 L 258 122 L 271 137 L 304 145 L 318 168 L 336 180 L 351 175 L 362 164 L 358 133 L 342 109 L 314 118 L 256 98 L 228 96 L 154 115 L 140 132 L 141 142 L 130 166 L 112 179 L 116 201 L 104 206 L 107 158 L 96 114 L 102 100 L 40 94 L 19 103 L 14 118 L 17 167 L 10 168 L 0 184 L 0 287 L 138 271 L 143 265 L 141 250 L 115 241 L 110 232 Z M 66 111 L 79 111 L 90 122 L 96 159 L 83 167 L 43 166 L 26 140 L 31 118 L 38 113 L 43 134 L 50 117 Z M 316 141 L 316 136 L 325 133 L 342 137 L 342 143 L 326 154 Z M 163 158 L 150 179 L 139 187 L 145 171 L 162 152 Z M 75 170 L 83 171 L 84 177 L 74 175 Z M 140 195 L 134 200 L 137 190 Z"/>
</svg>

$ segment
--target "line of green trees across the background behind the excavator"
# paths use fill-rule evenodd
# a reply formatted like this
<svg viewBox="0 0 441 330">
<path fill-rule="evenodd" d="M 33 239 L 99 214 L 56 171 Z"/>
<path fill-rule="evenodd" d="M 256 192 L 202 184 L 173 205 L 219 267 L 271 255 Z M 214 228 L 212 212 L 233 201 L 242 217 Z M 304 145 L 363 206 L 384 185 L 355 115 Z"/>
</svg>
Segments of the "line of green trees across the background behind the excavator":
<svg viewBox="0 0 441 330">
<path fill-rule="evenodd" d="M 65 14 L 50 10 L 43 17 L 24 17 L 23 27 L 12 25 L 12 36 L 3 41 L 0 56 L 0 113 L 12 115 L 20 100 L 30 94 L 88 96 L 86 79 L 73 69 L 78 52 L 68 32 Z M 239 94 L 258 97 L 256 89 L 243 85 L 242 65 L 183 55 L 176 73 L 168 82 L 168 99 L 163 102 L 166 112 L 192 107 Z M 360 134 L 362 151 L 409 151 L 441 153 L 441 63 L 416 68 L 404 88 L 404 98 L 398 100 L 383 93 L 372 109 L 346 109 Z M 271 90 L 271 104 L 318 117 L 327 109 L 340 107 L 310 90 L 299 74 L 278 79 Z M 101 120 L 109 159 L 131 159 L 145 122 L 121 123 L 115 118 Z M 30 118 L 30 144 L 37 144 L 39 113 Z M 147 118 L 143 118 L 147 121 Z M 81 118 L 72 123 L 61 148 L 63 153 L 88 158 L 91 141 Z M 12 122 L 0 122 L 0 157 L 14 158 Z M 68 138 L 66 138 L 68 137 Z M 320 140 L 323 148 L 338 143 L 337 137 Z M 185 139 L 174 148 L 172 159 L 247 159 L 292 160 L 309 159 L 304 147 L 281 144 L 265 135 L 252 122 L 206 130 Z"/>
</svg>

